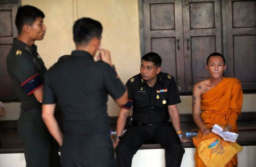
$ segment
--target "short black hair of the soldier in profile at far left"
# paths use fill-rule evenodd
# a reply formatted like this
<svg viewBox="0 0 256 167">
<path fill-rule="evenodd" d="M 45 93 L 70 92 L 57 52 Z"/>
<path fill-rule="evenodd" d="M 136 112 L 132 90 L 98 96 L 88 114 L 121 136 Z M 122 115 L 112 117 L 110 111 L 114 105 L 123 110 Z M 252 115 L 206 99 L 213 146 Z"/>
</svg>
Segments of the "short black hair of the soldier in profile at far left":
<svg viewBox="0 0 256 167">
<path fill-rule="evenodd" d="M 24 24 L 32 25 L 38 17 L 44 18 L 44 14 L 40 9 L 31 5 L 19 6 L 15 18 L 18 34 L 21 33 Z"/>
</svg>

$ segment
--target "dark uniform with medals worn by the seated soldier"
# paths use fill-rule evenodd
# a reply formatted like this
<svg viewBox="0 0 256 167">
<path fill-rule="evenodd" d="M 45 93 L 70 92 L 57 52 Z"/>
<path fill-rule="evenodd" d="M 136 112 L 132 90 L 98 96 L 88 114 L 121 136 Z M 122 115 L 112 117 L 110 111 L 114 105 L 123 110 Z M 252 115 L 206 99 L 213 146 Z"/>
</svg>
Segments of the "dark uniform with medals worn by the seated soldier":
<svg viewBox="0 0 256 167">
<path fill-rule="evenodd" d="M 118 167 L 130 167 L 133 155 L 142 144 L 155 142 L 165 149 L 166 167 L 179 167 L 184 154 L 180 140 L 169 122 L 168 105 L 180 103 L 174 78 L 160 72 L 153 87 L 140 74 L 130 78 L 126 87 L 128 103 L 132 108 L 131 127 L 120 138 L 115 149 Z"/>
</svg>

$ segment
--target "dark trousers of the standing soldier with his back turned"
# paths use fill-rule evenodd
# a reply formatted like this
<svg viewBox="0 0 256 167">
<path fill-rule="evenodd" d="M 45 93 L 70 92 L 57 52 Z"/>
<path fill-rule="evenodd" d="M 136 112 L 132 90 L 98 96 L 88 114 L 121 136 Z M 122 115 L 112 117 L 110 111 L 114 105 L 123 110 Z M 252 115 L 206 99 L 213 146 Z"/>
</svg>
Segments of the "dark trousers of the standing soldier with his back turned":
<svg viewBox="0 0 256 167">
<path fill-rule="evenodd" d="M 62 167 L 116 167 L 109 132 L 65 133 L 60 155 Z"/>
</svg>

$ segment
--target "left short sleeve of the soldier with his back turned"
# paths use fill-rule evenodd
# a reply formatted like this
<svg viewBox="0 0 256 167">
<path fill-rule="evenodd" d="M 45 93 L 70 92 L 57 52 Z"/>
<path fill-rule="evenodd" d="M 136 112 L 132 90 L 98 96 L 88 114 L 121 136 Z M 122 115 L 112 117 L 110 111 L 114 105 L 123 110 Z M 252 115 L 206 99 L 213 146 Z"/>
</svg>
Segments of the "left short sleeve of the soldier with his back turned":
<svg viewBox="0 0 256 167">
<path fill-rule="evenodd" d="M 50 77 L 48 73 L 44 75 L 43 98 L 42 104 L 54 104 L 56 97 L 50 87 Z"/>
</svg>

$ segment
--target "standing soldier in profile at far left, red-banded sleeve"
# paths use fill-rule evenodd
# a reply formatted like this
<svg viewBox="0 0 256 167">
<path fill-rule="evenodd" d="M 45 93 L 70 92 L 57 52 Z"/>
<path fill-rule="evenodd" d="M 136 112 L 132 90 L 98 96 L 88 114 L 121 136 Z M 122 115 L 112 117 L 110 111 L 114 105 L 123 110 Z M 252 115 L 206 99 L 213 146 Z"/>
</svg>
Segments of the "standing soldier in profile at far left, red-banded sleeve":
<svg viewBox="0 0 256 167">
<path fill-rule="evenodd" d="M 24 143 L 26 167 L 59 167 L 57 148 L 41 118 L 44 63 L 37 53 L 35 40 L 42 40 L 46 27 L 44 14 L 34 6 L 24 5 L 17 10 L 17 38 L 6 58 L 6 67 L 20 102 L 18 135 Z"/>
</svg>

